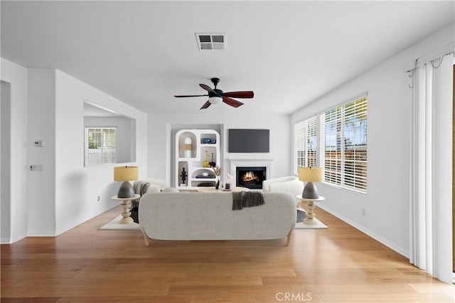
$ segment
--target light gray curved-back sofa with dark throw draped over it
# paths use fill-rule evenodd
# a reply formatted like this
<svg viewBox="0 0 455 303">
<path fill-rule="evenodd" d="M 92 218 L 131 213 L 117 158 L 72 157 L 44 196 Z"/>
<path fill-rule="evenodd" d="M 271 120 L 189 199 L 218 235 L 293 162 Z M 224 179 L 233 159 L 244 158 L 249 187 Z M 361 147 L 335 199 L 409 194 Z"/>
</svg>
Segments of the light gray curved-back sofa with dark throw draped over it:
<svg viewBox="0 0 455 303">
<path fill-rule="evenodd" d="M 287 237 L 296 224 L 291 194 L 264 193 L 264 205 L 232 210 L 231 192 L 146 193 L 139 225 L 157 240 L 264 240 Z"/>
</svg>

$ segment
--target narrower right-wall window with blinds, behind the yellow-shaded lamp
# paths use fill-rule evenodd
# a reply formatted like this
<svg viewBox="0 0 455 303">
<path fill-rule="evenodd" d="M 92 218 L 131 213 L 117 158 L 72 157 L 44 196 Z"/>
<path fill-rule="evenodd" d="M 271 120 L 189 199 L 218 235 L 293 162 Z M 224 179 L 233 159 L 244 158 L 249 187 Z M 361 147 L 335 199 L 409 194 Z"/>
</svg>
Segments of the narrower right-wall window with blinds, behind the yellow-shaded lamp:
<svg viewBox="0 0 455 303">
<path fill-rule="evenodd" d="M 294 172 L 299 173 L 299 167 L 316 166 L 316 116 L 296 123 L 294 126 L 296 158 Z"/>
</svg>

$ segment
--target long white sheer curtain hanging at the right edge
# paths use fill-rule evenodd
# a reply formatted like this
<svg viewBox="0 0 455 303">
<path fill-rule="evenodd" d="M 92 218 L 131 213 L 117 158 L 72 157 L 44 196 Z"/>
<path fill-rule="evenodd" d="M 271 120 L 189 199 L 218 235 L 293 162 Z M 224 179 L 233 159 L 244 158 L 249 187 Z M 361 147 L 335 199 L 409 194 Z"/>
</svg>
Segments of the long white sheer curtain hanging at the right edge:
<svg viewBox="0 0 455 303">
<path fill-rule="evenodd" d="M 410 263 L 452 282 L 453 52 L 410 70 Z"/>
</svg>

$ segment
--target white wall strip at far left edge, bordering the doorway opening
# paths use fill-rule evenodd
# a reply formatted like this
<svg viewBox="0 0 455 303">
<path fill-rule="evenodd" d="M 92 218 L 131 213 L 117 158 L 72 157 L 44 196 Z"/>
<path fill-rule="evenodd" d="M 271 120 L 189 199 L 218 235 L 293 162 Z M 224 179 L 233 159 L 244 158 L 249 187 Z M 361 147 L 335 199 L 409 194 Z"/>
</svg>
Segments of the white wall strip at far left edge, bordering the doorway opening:
<svg viewBox="0 0 455 303">
<path fill-rule="evenodd" d="M 27 74 L 25 67 L 1 59 L 1 80 L 11 84 L 11 208 L 9 242 L 15 242 L 27 236 Z M 14 136 L 12 136 L 14 134 Z M 12 168 L 14 167 L 14 169 Z M 3 203 L 3 201 L 2 201 Z M 2 221 L 2 224 L 4 222 Z M 4 239 L 1 239 L 4 243 Z M 6 239 L 6 242 L 8 239 Z"/>
</svg>

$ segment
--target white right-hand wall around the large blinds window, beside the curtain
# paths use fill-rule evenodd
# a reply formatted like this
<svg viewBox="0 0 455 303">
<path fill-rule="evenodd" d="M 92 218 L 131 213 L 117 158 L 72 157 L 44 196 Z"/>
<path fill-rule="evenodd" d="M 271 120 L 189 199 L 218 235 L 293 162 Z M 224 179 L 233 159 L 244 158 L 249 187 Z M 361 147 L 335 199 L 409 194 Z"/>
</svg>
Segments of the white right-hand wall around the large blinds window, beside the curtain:
<svg viewBox="0 0 455 303">
<path fill-rule="evenodd" d="M 410 246 L 410 89 L 402 68 L 453 41 L 451 24 L 291 117 L 296 123 L 368 91 L 368 193 L 318 184 L 326 197 L 319 205 L 405 256 Z"/>
</svg>

